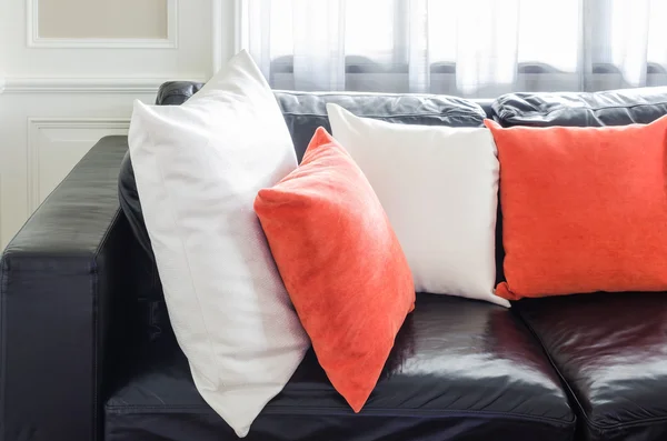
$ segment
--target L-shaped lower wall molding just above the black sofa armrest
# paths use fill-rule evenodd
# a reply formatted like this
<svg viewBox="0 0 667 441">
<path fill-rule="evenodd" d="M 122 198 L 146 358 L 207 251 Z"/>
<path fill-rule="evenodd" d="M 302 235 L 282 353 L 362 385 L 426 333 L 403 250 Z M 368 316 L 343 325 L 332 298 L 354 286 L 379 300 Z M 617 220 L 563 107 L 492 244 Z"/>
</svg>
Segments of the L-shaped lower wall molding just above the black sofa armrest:
<svg viewBox="0 0 667 441">
<path fill-rule="evenodd" d="M 28 118 L 28 216 L 30 216 L 40 201 L 40 176 L 39 176 L 39 146 L 38 137 L 42 129 L 98 129 L 110 130 L 130 128 L 128 118 Z M 92 147 L 92 146 L 91 146 Z"/>
</svg>

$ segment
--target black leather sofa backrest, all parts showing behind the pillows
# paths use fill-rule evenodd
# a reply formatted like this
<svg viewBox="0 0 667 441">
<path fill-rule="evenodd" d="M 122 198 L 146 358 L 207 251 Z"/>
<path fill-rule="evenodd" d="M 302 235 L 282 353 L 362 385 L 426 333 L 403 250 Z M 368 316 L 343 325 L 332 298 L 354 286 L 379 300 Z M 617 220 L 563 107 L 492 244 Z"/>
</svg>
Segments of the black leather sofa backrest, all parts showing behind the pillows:
<svg viewBox="0 0 667 441">
<path fill-rule="evenodd" d="M 173 81 L 161 86 L 157 104 L 180 106 L 201 88 L 201 83 Z M 467 100 L 447 96 L 378 93 L 309 93 L 276 91 L 285 120 L 301 159 L 315 129 L 330 129 L 326 104 L 335 102 L 360 117 L 395 123 L 450 127 L 481 127 L 485 118 L 510 126 L 624 126 L 648 123 L 667 114 L 667 88 L 643 88 L 596 93 L 510 93 L 495 100 Z M 120 204 L 135 235 L 143 247 L 148 265 L 143 299 L 150 310 L 147 329 L 170 329 L 150 241 L 143 224 L 129 154 L 119 176 Z M 496 267 L 504 280 L 502 217 L 498 208 Z"/>
</svg>

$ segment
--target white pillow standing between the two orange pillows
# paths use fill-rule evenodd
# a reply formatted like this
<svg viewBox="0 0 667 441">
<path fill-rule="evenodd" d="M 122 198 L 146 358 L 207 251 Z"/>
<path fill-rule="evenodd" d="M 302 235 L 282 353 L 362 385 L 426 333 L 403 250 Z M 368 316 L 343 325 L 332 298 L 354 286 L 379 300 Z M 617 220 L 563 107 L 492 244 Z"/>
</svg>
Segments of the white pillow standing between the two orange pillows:
<svg viewBox="0 0 667 441">
<path fill-rule="evenodd" d="M 389 217 L 415 289 L 509 307 L 494 294 L 499 166 L 490 131 L 395 124 L 332 103 L 327 112 Z"/>
</svg>

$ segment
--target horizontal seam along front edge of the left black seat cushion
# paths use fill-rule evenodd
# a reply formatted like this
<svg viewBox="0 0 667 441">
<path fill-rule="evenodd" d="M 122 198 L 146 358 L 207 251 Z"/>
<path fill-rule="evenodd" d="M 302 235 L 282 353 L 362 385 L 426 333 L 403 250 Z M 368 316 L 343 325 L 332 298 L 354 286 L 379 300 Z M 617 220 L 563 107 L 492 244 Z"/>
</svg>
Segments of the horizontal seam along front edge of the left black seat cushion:
<svg viewBox="0 0 667 441">
<path fill-rule="evenodd" d="M 285 409 L 285 410 L 282 410 Z M 308 417 L 308 415 L 344 415 L 344 417 L 354 417 L 355 414 L 341 408 L 307 408 L 309 412 L 295 412 L 295 408 L 285 407 L 285 408 L 265 408 L 262 411 L 263 414 L 278 414 L 278 415 L 299 415 L 299 417 Z M 207 413 L 215 413 L 212 409 L 205 408 L 202 405 L 107 405 L 106 410 L 110 413 L 115 414 L 128 414 L 128 413 L 153 413 L 152 411 L 179 411 L 179 410 L 203 410 Z M 437 409 L 431 411 L 420 410 L 421 414 L 415 415 L 414 413 L 409 413 L 407 411 L 414 409 L 366 409 L 364 410 L 367 417 L 401 417 L 401 418 L 457 418 L 461 415 L 472 415 L 472 417 L 498 417 L 498 418 L 510 418 L 516 420 L 530 420 L 536 422 L 550 422 L 560 424 L 564 427 L 569 427 L 575 423 L 576 420 L 563 420 L 555 419 L 548 417 L 538 417 L 538 415 L 527 415 L 522 413 L 508 413 L 508 412 L 485 412 L 485 411 L 460 411 L 460 410 L 448 410 L 448 409 Z"/>
</svg>

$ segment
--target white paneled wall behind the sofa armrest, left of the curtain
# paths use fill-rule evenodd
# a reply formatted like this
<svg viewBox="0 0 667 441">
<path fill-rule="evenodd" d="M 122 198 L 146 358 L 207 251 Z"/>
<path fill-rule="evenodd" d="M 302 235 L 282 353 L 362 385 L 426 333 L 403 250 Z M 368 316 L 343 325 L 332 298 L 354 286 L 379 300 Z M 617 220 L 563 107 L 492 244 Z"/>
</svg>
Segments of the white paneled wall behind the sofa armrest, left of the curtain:
<svg viewBox="0 0 667 441">
<path fill-rule="evenodd" d="M 52 39 L 39 33 L 39 0 L 0 2 L 2 248 L 99 138 L 127 133 L 135 99 L 203 81 L 233 54 L 235 0 L 167 3 L 166 38 Z"/>
</svg>

